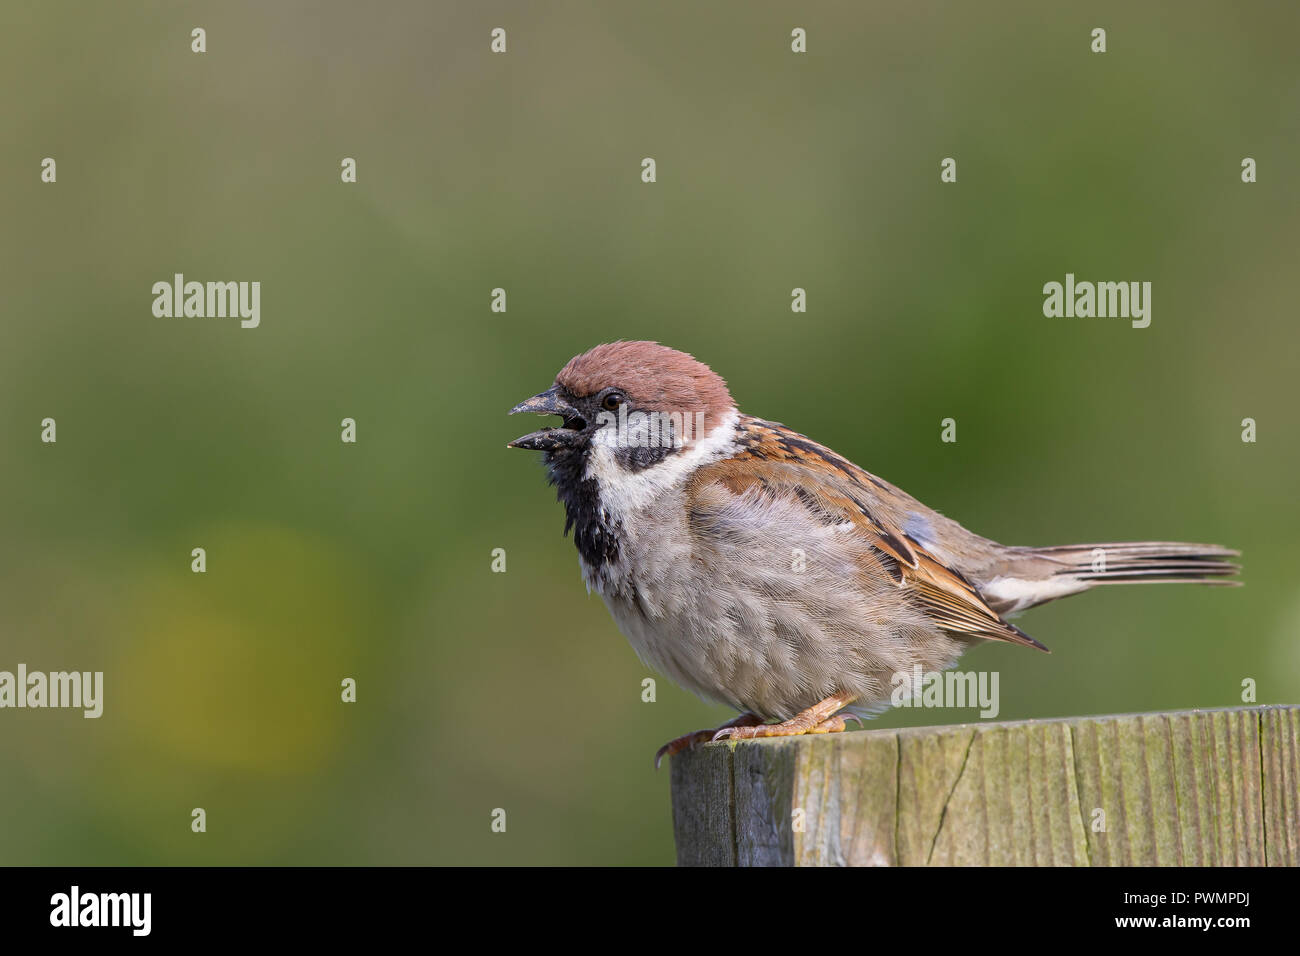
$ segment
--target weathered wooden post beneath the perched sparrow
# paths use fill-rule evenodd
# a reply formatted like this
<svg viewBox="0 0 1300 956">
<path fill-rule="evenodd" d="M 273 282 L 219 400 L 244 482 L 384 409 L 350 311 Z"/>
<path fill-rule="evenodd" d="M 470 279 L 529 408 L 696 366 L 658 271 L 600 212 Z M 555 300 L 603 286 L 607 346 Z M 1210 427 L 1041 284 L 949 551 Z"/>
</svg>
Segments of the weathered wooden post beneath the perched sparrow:
<svg viewBox="0 0 1300 956">
<path fill-rule="evenodd" d="M 672 761 L 681 865 L 1300 865 L 1300 708 L 855 731 Z"/>
</svg>

